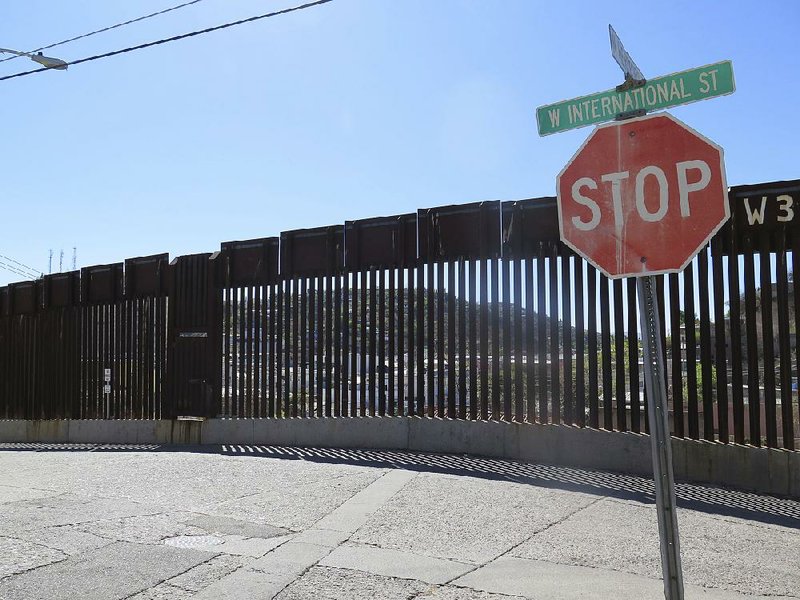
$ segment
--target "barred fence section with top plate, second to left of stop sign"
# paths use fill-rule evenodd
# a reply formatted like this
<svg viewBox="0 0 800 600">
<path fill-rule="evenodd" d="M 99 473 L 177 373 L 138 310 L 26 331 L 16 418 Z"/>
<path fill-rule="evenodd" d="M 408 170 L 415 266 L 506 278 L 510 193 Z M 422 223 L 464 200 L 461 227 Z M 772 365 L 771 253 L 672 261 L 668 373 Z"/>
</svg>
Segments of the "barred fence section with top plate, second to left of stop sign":
<svg viewBox="0 0 800 600">
<path fill-rule="evenodd" d="M 418 319 L 415 325 L 424 332 L 418 341 L 425 342 L 417 347 L 417 363 L 424 371 L 416 386 L 418 414 L 454 418 L 461 412 L 473 418 L 502 418 L 500 219 L 499 202 L 417 213 L 417 302 L 426 309 L 424 322 Z M 469 286 L 464 278 L 470 280 Z M 471 307 L 465 306 L 470 299 L 458 291 L 467 287 L 471 296 L 477 293 L 481 298 L 480 310 L 474 299 Z M 460 316 L 465 319 L 463 327 L 456 326 Z M 464 332 L 471 344 L 458 339 L 457 332 Z M 467 371 L 468 381 L 459 386 L 458 374 Z"/>
</svg>

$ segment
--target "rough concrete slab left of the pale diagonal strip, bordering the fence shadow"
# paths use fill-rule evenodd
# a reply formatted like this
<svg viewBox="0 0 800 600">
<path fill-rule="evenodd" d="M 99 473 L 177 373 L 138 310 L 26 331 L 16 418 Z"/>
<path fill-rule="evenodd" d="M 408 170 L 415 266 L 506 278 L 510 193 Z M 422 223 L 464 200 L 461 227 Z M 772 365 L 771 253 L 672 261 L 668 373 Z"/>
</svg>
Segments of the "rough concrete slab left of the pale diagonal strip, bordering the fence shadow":
<svg viewBox="0 0 800 600">
<path fill-rule="evenodd" d="M 5 453 L 3 459 L 16 474 L 14 485 L 35 487 L 47 481 L 48 489 L 83 498 L 96 497 L 99 490 L 113 490 L 110 494 L 114 498 L 147 504 L 156 509 L 151 512 L 177 506 L 188 512 L 293 530 L 304 529 L 309 520 L 318 520 L 383 472 L 372 467 L 301 460 L 288 461 L 289 465 L 287 461 L 256 456 L 225 456 L 224 461 L 219 455 L 205 453 L 177 452 L 170 454 L 169 460 L 164 456 L 147 452 L 31 452 L 24 469 L 16 466 L 19 460 L 15 454 Z M 248 503 L 248 498 L 256 500 Z M 233 510 L 237 508 L 240 510 Z M 314 509 L 314 514 L 309 514 Z"/>
</svg>

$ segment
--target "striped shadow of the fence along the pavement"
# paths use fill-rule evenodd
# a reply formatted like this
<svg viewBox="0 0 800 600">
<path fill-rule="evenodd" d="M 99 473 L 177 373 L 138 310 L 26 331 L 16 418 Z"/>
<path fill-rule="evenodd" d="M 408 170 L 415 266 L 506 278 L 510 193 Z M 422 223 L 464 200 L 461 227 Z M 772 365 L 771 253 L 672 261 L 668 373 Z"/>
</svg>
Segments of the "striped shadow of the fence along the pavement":
<svg viewBox="0 0 800 600">
<path fill-rule="evenodd" d="M 513 481 L 537 487 L 655 504 L 651 479 L 637 475 L 576 467 L 524 463 L 463 454 L 428 454 L 398 450 L 301 448 L 265 445 L 177 446 L 159 444 L 3 443 L 0 451 L 38 452 L 194 452 L 279 460 L 306 460 L 384 469 L 407 469 Z M 800 529 L 800 501 L 697 483 L 676 483 L 680 508 L 738 517 Z"/>
</svg>

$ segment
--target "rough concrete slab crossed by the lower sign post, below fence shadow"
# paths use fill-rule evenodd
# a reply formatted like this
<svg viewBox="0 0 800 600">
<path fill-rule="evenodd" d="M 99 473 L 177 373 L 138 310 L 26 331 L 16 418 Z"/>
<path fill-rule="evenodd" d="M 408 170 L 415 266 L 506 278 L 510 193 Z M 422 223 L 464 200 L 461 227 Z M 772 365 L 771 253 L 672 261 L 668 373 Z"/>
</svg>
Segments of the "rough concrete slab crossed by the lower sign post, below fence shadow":
<svg viewBox="0 0 800 600">
<path fill-rule="evenodd" d="M 800 530 L 680 509 L 678 529 L 686 583 L 750 594 L 800 593 L 800 552 L 786 551 L 800 548 Z M 659 552 L 654 505 L 601 500 L 512 554 L 658 579 Z"/>
</svg>

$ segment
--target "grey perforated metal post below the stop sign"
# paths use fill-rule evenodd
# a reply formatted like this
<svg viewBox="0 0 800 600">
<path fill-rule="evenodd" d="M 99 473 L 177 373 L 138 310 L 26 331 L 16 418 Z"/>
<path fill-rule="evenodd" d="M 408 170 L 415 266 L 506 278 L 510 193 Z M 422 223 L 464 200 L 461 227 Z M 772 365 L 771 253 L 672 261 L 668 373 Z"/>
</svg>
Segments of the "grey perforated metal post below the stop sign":
<svg viewBox="0 0 800 600">
<path fill-rule="evenodd" d="M 664 578 L 664 597 L 683 599 L 683 571 L 678 539 L 678 515 L 675 512 L 675 478 L 672 471 L 672 443 L 667 420 L 667 390 L 664 378 L 664 353 L 661 346 L 661 318 L 656 279 L 652 275 L 639 277 L 639 320 L 644 346 L 644 381 L 647 398 L 647 417 L 653 452 L 653 478 L 656 485 L 658 535 L 661 542 L 661 574 Z"/>
</svg>

